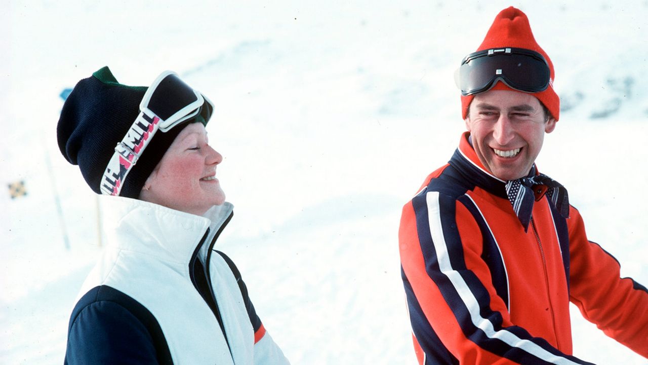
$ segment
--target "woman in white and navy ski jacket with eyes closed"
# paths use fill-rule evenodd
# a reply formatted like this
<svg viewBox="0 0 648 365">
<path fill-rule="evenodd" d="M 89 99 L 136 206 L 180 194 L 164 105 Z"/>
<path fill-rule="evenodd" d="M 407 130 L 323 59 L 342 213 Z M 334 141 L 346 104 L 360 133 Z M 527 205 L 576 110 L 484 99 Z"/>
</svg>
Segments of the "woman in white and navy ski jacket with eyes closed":
<svg viewBox="0 0 648 365">
<path fill-rule="evenodd" d="M 65 364 L 288 364 L 214 250 L 233 208 L 205 132 L 212 110 L 175 73 L 133 87 L 107 67 L 65 101 L 58 144 L 103 195 L 108 240 L 73 309 Z"/>
</svg>

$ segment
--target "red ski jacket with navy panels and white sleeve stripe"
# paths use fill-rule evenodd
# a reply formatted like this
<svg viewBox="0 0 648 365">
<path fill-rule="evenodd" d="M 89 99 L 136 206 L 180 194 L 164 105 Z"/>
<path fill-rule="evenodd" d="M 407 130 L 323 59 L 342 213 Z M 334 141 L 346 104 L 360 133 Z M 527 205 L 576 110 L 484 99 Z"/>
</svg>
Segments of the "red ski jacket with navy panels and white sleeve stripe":
<svg viewBox="0 0 648 365">
<path fill-rule="evenodd" d="M 505 182 L 468 141 L 402 211 L 402 279 L 420 364 L 589 364 L 572 356 L 569 302 L 648 357 L 648 291 L 536 194 L 525 231 Z"/>
</svg>

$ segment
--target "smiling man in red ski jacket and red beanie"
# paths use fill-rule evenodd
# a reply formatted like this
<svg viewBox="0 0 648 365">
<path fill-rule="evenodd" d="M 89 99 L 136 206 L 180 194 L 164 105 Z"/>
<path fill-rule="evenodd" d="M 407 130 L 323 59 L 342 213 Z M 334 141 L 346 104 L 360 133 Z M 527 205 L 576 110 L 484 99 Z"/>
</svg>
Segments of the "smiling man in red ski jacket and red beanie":
<svg viewBox="0 0 648 365">
<path fill-rule="evenodd" d="M 590 242 L 535 158 L 559 118 L 550 58 L 510 7 L 459 69 L 467 132 L 402 212 L 402 279 L 420 364 L 589 364 L 569 302 L 648 357 L 648 291 Z"/>
</svg>

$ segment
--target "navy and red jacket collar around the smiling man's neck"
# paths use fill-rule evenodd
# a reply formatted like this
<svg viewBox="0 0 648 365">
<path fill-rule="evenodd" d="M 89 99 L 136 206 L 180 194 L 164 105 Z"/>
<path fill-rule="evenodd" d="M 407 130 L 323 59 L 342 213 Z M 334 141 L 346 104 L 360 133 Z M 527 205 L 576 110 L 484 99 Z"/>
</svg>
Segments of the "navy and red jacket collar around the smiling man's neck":
<svg viewBox="0 0 648 365">
<path fill-rule="evenodd" d="M 450 166 L 461 173 L 461 175 L 470 182 L 486 190 L 487 192 L 508 199 L 506 194 L 506 181 L 495 177 L 481 164 L 477 153 L 475 152 L 468 138 L 470 132 L 464 132 L 459 139 L 459 147 L 457 147 L 454 155 L 450 158 Z M 533 164 L 531 174 L 537 174 L 537 168 Z"/>
</svg>

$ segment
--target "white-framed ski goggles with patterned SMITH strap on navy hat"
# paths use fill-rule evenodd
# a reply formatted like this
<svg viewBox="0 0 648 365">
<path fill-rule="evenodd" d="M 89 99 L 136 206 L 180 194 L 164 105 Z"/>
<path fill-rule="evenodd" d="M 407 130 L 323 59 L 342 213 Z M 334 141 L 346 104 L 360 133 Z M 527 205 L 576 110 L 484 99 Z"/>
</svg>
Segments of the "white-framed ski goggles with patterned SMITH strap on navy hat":
<svg viewBox="0 0 648 365">
<path fill-rule="evenodd" d="M 207 121 L 213 110 L 214 104 L 185 84 L 176 73 L 161 73 L 146 90 L 139 105 L 139 115 L 115 147 L 102 177 L 102 194 L 119 195 L 126 176 L 156 132 L 167 132 L 199 114 Z"/>
</svg>

